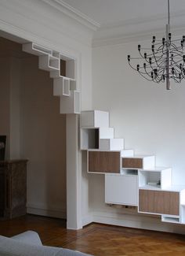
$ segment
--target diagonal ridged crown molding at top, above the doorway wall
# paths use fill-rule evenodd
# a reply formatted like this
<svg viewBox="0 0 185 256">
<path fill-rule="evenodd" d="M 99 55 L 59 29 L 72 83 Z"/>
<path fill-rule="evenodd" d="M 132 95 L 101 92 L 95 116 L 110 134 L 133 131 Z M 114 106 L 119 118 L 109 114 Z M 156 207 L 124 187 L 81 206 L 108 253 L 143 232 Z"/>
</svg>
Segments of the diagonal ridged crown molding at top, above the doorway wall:
<svg viewBox="0 0 185 256">
<path fill-rule="evenodd" d="M 72 6 L 67 5 L 66 2 L 62 0 L 41 0 L 49 6 L 57 9 L 61 13 L 64 13 L 68 17 L 78 21 L 78 23 L 84 25 L 86 28 L 89 28 L 93 31 L 96 31 L 97 28 L 100 28 L 100 24 L 90 17 L 86 16 L 84 13 L 78 11 L 78 9 L 73 8 Z"/>
</svg>

